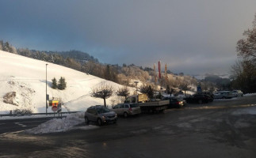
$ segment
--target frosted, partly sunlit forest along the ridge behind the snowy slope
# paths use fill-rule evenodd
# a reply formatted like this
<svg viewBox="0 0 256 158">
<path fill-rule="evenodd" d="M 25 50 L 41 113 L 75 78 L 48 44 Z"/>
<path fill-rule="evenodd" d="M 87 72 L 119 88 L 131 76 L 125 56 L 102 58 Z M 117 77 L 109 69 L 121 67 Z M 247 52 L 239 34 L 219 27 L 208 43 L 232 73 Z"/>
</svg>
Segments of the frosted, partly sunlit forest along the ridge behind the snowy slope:
<svg viewBox="0 0 256 158">
<path fill-rule="evenodd" d="M 61 66 L 66 66 L 83 73 L 91 74 L 96 77 L 104 78 L 108 81 L 116 82 L 120 85 L 136 87 L 134 81 L 142 81 L 144 85 L 150 86 L 155 91 L 166 88 L 168 93 L 187 91 L 195 87 L 198 81 L 194 77 L 186 76 L 184 73 L 174 74 L 167 70 L 168 77 L 158 78 L 155 85 L 155 72 L 152 68 L 136 66 L 134 64 L 123 66 L 102 64 L 97 58 L 90 56 L 82 51 L 36 51 L 28 48 L 18 48 L 11 46 L 10 43 L 0 42 L 0 50 L 9 51 L 29 58 L 35 58 L 45 62 L 52 62 Z M 162 75 L 164 76 L 164 75 Z M 214 91 L 216 84 L 205 85 L 205 90 Z M 160 87 L 160 88 L 159 88 Z"/>
</svg>

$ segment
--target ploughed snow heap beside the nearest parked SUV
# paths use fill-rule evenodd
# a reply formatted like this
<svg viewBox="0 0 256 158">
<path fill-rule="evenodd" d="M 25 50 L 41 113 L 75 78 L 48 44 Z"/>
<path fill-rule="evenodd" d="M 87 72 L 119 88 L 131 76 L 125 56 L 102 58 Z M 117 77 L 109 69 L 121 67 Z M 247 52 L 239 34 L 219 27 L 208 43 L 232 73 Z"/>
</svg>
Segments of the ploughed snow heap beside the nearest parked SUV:
<svg viewBox="0 0 256 158">
<path fill-rule="evenodd" d="M 84 123 L 83 112 L 67 115 L 67 118 L 64 119 L 51 119 L 48 122 L 40 124 L 35 128 L 26 130 L 28 134 L 48 134 L 48 133 L 57 133 L 65 132 L 68 130 L 90 130 L 98 128 L 98 126 L 77 126 Z"/>
</svg>

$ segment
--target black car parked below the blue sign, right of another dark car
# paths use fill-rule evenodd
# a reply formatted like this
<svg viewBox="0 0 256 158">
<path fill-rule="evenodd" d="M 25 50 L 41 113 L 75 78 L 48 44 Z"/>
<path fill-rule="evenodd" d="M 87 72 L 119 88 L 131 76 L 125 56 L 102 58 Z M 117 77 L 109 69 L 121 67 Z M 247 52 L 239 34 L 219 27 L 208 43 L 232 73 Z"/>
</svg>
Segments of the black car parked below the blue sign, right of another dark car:
<svg viewBox="0 0 256 158">
<path fill-rule="evenodd" d="M 211 96 L 206 94 L 197 93 L 193 96 L 189 96 L 184 99 L 187 103 L 209 103 L 212 102 L 213 99 Z"/>
</svg>

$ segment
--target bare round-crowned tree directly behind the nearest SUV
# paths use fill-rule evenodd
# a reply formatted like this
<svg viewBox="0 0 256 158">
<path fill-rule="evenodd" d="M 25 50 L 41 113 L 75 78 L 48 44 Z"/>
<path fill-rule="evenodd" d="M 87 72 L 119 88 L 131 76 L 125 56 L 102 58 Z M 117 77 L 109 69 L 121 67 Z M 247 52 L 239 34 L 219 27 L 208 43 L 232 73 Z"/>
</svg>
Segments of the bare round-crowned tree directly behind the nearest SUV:
<svg viewBox="0 0 256 158">
<path fill-rule="evenodd" d="M 113 95 L 114 88 L 111 85 L 105 85 L 101 83 L 101 86 L 92 88 L 91 96 L 95 98 L 101 98 L 104 100 L 104 106 L 106 107 L 105 100 Z"/>
</svg>

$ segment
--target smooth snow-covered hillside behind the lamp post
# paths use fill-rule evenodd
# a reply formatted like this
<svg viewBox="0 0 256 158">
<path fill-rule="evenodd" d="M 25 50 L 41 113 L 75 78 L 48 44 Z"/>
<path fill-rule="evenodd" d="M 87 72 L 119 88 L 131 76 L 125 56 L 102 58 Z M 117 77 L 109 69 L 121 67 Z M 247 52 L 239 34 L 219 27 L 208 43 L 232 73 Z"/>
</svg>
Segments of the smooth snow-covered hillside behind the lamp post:
<svg viewBox="0 0 256 158">
<path fill-rule="evenodd" d="M 102 99 L 90 96 L 91 88 L 101 85 L 102 82 L 116 89 L 121 86 L 67 67 L 0 51 L 0 114 L 8 114 L 15 109 L 45 112 L 46 64 L 48 95 L 50 99 L 61 98 L 64 103 L 63 111 L 85 111 L 92 105 L 103 104 Z M 52 89 L 53 77 L 57 81 L 60 77 L 65 77 L 67 88 Z M 107 100 L 108 105 L 114 97 L 116 96 Z M 52 112 L 51 107 L 48 112 Z"/>
</svg>

